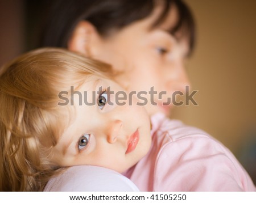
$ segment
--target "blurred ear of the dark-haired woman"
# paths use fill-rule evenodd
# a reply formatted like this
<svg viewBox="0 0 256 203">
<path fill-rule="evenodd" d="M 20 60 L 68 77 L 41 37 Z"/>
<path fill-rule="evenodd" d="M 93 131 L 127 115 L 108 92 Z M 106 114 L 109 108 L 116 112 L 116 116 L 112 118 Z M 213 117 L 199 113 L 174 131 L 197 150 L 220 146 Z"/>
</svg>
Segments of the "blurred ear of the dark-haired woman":
<svg viewBox="0 0 256 203">
<path fill-rule="evenodd" d="M 82 20 L 75 27 L 68 41 L 68 49 L 93 57 L 102 43 L 96 28 L 88 21 Z"/>
</svg>

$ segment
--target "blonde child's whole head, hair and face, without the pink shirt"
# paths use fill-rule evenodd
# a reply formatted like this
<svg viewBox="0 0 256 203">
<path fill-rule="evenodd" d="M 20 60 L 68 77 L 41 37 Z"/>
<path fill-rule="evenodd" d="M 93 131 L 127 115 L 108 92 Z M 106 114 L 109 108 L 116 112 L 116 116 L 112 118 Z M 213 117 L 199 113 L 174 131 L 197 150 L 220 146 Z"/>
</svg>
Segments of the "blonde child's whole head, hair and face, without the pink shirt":
<svg viewBox="0 0 256 203">
<path fill-rule="evenodd" d="M 107 88 L 122 88 L 106 70 L 110 67 L 101 62 L 50 48 L 2 67 L 0 191 L 42 191 L 69 166 L 124 172 L 146 155 L 151 143 L 147 112 L 134 105 L 135 99 L 133 105 L 108 105 Z M 85 105 L 84 99 L 95 104 Z"/>
</svg>

